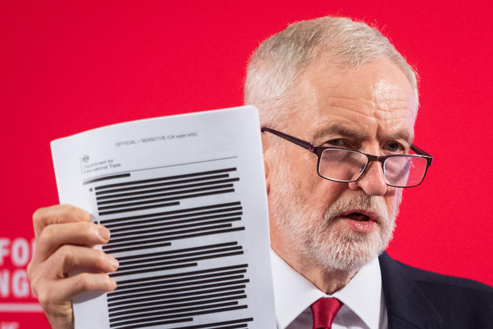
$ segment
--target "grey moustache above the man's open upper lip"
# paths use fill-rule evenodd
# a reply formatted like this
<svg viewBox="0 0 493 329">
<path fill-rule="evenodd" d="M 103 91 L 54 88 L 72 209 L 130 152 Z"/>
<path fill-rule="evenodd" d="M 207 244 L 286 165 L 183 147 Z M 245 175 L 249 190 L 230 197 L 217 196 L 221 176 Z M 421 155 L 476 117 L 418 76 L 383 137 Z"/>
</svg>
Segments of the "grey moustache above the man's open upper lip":
<svg viewBox="0 0 493 329">
<path fill-rule="evenodd" d="M 387 205 L 381 197 L 370 196 L 365 192 L 343 196 L 338 198 L 327 210 L 325 214 L 325 223 L 330 224 L 349 210 L 358 209 L 377 214 L 375 218 L 377 223 L 389 221 Z"/>
</svg>

